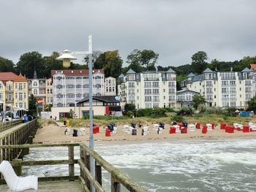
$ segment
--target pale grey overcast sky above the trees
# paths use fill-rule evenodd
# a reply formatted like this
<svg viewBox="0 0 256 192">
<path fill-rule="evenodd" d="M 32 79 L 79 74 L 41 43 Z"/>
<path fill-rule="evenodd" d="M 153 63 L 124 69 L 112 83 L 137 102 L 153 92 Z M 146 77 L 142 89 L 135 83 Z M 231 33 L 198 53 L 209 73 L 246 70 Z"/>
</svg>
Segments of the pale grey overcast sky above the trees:
<svg viewBox="0 0 256 192">
<path fill-rule="evenodd" d="M 256 55 L 255 0 L 1 0 L 0 56 L 15 63 L 38 51 L 134 49 L 159 53 L 160 66 Z M 78 60 L 78 63 L 80 61 Z"/>
</svg>

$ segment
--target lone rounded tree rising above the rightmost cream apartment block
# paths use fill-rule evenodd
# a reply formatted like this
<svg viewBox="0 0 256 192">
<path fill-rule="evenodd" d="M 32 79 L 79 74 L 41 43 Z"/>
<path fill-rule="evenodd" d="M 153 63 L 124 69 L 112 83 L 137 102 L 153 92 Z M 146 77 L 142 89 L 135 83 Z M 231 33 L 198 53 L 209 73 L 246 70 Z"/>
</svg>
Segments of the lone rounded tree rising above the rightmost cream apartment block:
<svg viewBox="0 0 256 192">
<path fill-rule="evenodd" d="M 194 72 L 197 74 L 202 73 L 206 67 L 207 67 L 207 62 L 206 60 L 208 59 L 206 52 L 204 51 L 198 51 L 194 55 L 192 55 L 192 69 L 194 69 Z"/>
</svg>

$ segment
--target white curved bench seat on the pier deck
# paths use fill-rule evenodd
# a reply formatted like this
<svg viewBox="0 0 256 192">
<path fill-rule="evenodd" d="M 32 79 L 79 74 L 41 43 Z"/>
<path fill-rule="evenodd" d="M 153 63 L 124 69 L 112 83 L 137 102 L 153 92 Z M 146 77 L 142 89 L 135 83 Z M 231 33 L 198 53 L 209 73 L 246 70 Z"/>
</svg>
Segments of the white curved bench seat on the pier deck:
<svg viewBox="0 0 256 192">
<path fill-rule="evenodd" d="M 4 176 L 10 191 L 25 191 L 34 189 L 37 191 L 38 179 L 37 176 L 29 175 L 26 177 L 18 177 L 9 161 L 2 161 L 0 164 L 0 172 Z"/>
</svg>

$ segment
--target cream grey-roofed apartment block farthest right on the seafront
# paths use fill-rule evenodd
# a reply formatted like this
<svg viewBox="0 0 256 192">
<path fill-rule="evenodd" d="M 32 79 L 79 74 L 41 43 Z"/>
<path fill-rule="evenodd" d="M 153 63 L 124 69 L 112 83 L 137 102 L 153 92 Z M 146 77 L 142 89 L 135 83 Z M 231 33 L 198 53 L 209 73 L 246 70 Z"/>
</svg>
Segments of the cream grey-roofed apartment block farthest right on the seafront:
<svg viewBox="0 0 256 192">
<path fill-rule="evenodd" d="M 247 107 L 252 99 L 252 74 L 242 72 L 217 72 L 206 69 L 202 74 L 189 74 L 181 82 L 184 90 L 196 91 L 205 96 L 210 107 Z"/>
</svg>

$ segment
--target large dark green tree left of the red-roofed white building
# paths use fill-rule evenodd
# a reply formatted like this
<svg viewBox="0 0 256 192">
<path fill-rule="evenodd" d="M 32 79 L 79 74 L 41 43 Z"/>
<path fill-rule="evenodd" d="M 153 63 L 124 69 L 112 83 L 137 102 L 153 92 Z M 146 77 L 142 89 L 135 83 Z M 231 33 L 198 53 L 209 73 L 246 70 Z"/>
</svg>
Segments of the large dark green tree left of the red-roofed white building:
<svg viewBox="0 0 256 192">
<path fill-rule="evenodd" d="M 37 77 L 45 77 L 45 59 L 37 51 L 24 53 L 20 56 L 16 70 L 29 78 L 33 78 L 34 70 L 37 70 Z"/>
</svg>

